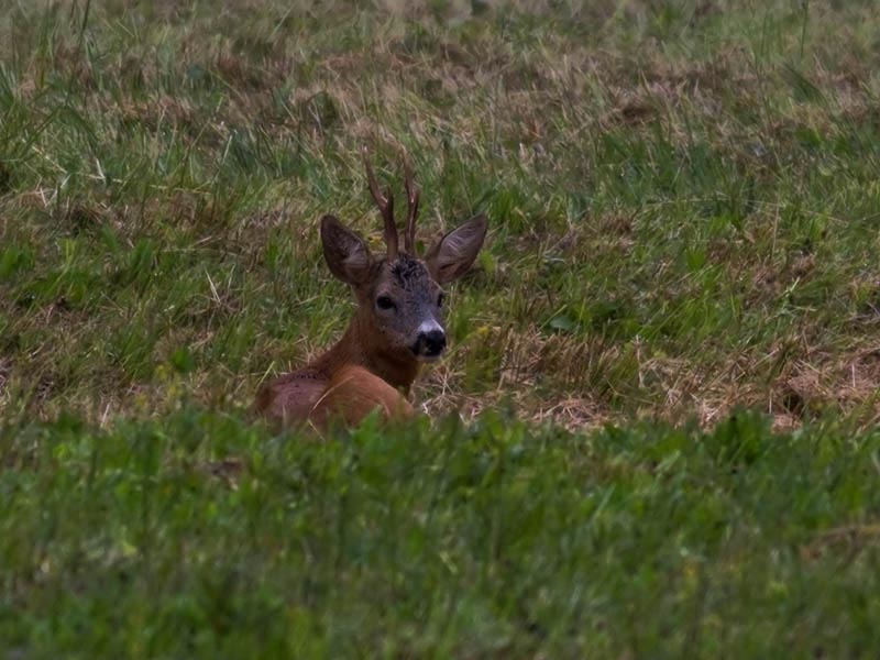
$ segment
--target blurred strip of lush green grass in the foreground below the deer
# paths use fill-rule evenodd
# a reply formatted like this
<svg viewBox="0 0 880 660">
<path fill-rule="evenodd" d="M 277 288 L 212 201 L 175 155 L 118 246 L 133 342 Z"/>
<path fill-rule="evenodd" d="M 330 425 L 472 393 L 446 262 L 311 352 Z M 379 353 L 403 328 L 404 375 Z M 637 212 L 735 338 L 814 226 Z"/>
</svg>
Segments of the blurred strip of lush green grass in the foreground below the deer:
<svg viewBox="0 0 880 660">
<path fill-rule="evenodd" d="M 877 431 L 485 415 L 315 442 L 184 411 L 2 442 L 10 657 L 880 649 Z"/>
</svg>

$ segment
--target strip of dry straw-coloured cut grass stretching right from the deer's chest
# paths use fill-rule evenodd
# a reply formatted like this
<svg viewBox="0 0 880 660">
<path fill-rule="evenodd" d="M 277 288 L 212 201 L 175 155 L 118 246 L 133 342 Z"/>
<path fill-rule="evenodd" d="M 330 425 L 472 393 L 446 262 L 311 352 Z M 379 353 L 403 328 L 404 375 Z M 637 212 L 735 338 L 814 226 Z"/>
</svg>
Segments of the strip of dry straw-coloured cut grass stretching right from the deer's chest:
<svg viewBox="0 0 880 660">
<path fill-rule="evenodd" d="M 465 364 L 468 353 L 480 351 L 477 345 L 462 346 L 416 384 L 421 409 L 473 417 L 486 408 L 513 406 L 521 417 L 552 419 L 571 428 L 625 422 L 634 414 L 673 424 L 696 416 L 710 428 L 743 406 L 765 410 L 778 430 L 798 428 L 832 410 L 864 424 L 880 420 L 880 346 L 843 355 L 815 352 L 790 361 L 765 384 L 759 374 L 779 358 L 777 352 L 762 358 L 744 353 L 717 366 L 696 366 L 697 361 L 684 358 L 644 358 L 638 350 L 624 353 L 597 339 L 546 337 L 535 330 L 496 331 L 491 343 L 505 346 L 493 387 L 479 395 L 461 394 L 469 391 L 468 370 L 453 365 Z M 631 392 L 622 409 L 614 405 L 617 393 L 608 384 L 626 382 L 622 373 L 628 370 L 634 373 Z"/>
</svg>

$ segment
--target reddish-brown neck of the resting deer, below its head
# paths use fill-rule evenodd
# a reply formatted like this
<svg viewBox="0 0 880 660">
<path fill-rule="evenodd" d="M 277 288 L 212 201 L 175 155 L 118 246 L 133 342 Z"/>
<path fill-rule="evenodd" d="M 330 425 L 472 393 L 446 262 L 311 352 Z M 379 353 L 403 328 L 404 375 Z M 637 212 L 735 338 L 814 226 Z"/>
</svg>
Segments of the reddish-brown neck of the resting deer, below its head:
<svg viewBox="0 0 880 660">
<path fill-rule="evenodd" d="M 312 366 L 332 375 L 349 364 L 363 366 L 393 387 L 409 393 L 419 373 L 419 362 L 408 351 L 394 351 L 381 345 L 380 333 L 365 315 L 356 315 L 342 338 Z"/>
</svg>

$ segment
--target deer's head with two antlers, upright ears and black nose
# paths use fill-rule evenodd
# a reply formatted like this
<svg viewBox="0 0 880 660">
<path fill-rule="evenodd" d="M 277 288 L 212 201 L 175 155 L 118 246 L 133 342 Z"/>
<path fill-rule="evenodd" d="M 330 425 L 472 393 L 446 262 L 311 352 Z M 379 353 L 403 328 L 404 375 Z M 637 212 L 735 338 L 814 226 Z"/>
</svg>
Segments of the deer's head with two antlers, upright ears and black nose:
<svg viewBox="0 0 880 660">
<path fill-rule="evenodd" d="M 463 275 L 474 263 L 486 235 L 486 217 L 480 215 L 437 241 L 424 257 L 416 251 L 419 190 L 406 167 L 407 218 L 404 249 L 398 244 L 391 189 L 380 190 L 364 152 L 370 193 L 385 227 L 384 255 L 371 254 L 364 240 L 334 216 L 321 219 L 321 242 L 330 271 L 351 285 L 358 299 L 362 332 L 371 345 L 388 356 L 429 362 L 447 345 L 443 328 L 442 285 Z"/>
</svg>

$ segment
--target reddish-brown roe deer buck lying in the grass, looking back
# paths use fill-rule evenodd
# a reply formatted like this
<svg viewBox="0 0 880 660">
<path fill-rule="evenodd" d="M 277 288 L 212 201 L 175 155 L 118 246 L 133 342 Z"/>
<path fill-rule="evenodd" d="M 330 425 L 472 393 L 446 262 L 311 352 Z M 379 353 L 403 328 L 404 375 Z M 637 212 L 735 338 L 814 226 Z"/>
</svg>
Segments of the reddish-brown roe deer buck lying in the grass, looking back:
<svg viewBox="0 0 880 660">
<path fill-rule="evenodd" d="M 326 430 L 334 419 L 352 427 L 374 410 L 384 420 L 413 416 L 410 387 L 422 364 L 439 360 L 447 348 L 442 287 L 471 268 L 485 240 L 488 222 L 480 213 L 419 256 L 419 189 L 405 162 L 407 216 L 400 249 L 392 189 L 381 191 L 366 148 L 363 161 L 383 219 L 386 252 L 372 254 L 364 239 L 336 216 L 321 218 L 324 261 L 330 273 L 349 285 L 358 307 L 329 350 L 257 393 L 257 414 L 283 427 Z"/>
</svg>

